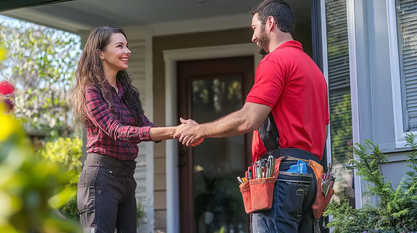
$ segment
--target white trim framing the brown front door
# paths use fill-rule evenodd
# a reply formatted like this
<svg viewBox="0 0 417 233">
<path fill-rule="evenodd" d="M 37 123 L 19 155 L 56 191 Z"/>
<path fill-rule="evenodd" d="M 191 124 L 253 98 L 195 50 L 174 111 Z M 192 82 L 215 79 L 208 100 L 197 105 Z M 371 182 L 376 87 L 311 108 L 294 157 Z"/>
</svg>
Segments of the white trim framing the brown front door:
<svg viewBox="0 0 417 233">
<path fill-rule="evenodd" d="M 255 43 L 164 50 L 165 61 L 165 126 L 175 126 L 177 119 L 176 62 L 193 59 L 254 56 L 254 67 L 262 56 Z M 179 233 L 178 141 L 166 141 L 166 233 Z"/>
</svg>

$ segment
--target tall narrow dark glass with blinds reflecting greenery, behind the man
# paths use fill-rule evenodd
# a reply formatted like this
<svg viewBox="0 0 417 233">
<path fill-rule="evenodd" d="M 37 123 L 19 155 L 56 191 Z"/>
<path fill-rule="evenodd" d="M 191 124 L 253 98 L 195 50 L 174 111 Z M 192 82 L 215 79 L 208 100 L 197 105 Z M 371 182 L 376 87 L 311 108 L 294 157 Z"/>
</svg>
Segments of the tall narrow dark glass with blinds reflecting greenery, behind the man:
<svg viewBox="0 0 417 233">
<path fill-rule="evenodd" d="M 346 0 L 326 0 L 327 59 L 329 71 L 330 137 L 334 177 L 332 201 L 348 198 L 355 206 L 354 174 L 348 164 L 352 150 L 352 107 L 350 99 L 349 42 Z"/>
</svg>

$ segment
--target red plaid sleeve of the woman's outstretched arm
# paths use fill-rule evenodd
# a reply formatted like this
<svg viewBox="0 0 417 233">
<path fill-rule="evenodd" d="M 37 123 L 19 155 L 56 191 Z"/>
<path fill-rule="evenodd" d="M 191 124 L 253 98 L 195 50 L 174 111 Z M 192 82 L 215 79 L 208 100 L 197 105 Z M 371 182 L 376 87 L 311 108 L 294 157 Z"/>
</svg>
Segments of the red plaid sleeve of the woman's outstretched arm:
<svg viewBox="0 0 417 233">
<path fill-rule="evenodd" d="M 93 86 L 86 88 L 87 117 L 93 124 L 103 130 L 115 141 L 128 141 L 140 143 L 151 141 L 149 130 L 152 126 L 134 127 L 125 126 L 107 107 L 100 91 Z"/>
</svg>

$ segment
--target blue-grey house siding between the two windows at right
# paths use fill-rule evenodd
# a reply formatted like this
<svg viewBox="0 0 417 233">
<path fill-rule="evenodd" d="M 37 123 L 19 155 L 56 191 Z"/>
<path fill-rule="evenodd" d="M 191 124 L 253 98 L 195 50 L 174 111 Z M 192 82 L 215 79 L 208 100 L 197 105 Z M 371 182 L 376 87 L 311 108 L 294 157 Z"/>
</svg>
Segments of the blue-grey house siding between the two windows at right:
<svg viewBox="0 0 417 233">
<path fill-rule="evenodd" d="M 395 149 L 387 1 L 355 0 L 354 7 L 360 142 L 369 139 L 387 153 L 391 163 L 382 172 L 396 188 L 410 168 L 406 153 Z M 362 192 L 368 184 L 362 181 Z"/>
</svg>

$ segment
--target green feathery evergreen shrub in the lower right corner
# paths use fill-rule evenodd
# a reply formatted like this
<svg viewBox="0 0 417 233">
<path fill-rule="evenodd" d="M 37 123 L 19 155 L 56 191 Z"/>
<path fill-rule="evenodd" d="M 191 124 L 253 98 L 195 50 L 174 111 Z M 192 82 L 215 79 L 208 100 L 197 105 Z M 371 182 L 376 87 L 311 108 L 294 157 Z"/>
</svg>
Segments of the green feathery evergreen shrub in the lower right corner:
<svg viewBox="0 0 417 233">
<path fill-rule="evenodd" d="M 411 149 L 407 154 L 407 166 L 412 171 L 405 172 L 395 190 L 382 173 L 381 165 L 389 163 L 389 160 L 378 145 L 365 140 L 363 145 L 351 147 L 359 158 L 351 160 L 358 170 L 357 175 L 372 183 L 367 186 L 364 195 L 375 196 L 378 201 L 376 204 L 365 203 L 360 209 L 353 209 L 348 203 L 342 206 L 331 203 L 324 213 L 324 216 L 333 216 L 327 228 L 333 228 L 334 233 L 417 231 L 417 144 L 412 133 L 407 134 L 406 140 Z"/>
</svg>

